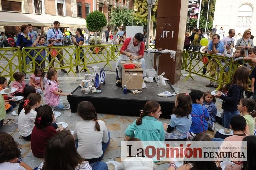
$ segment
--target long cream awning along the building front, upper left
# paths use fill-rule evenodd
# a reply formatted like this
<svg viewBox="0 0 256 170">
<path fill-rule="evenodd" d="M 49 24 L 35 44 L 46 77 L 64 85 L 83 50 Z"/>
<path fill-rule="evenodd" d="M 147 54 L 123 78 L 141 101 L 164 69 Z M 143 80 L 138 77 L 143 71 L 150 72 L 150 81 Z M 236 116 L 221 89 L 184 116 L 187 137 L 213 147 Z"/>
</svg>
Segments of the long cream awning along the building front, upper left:
<svg viewBox="0 0 256 170">
<path fill-rule="evenodd" d="M 53 22 L 58 20 L 61 27 L 86 27 L 84 18 L 56 16 L 46 14 L 22 13 L 13 11 L 0 11 L 0 26 L 21 26 L 31 24 L 32 26 L 52 27 Z"/>
</svg>

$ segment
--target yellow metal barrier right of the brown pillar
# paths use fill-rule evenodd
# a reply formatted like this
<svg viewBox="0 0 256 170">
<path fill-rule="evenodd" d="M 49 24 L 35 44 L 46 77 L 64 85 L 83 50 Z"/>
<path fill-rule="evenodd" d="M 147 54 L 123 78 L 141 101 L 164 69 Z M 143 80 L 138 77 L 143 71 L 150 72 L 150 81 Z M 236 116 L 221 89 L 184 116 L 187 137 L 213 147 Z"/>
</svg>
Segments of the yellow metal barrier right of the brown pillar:
<svg viewBox="0 0 256 170">
<path fill-rule="evenodd" d="M 194 80 L 192 74 L 199 75 L 219 83 L 218 88 L 216 88 L 216 90 L 219 90 L 222 85 L 230 83 L 239 65 L 240 63 L 238 61 L 233 62 L 232 58 L 184 50 L 181 69 L 188 72 L 188 76 L 184 81 L 188 80 L 189 77 Z M 243 61 L 242 65 L 249 65 L 251 71 L 254 68 L 254 64 L 248 61 Z M 251 82 L 251 80 L 249 81 Z"/>
</svg>

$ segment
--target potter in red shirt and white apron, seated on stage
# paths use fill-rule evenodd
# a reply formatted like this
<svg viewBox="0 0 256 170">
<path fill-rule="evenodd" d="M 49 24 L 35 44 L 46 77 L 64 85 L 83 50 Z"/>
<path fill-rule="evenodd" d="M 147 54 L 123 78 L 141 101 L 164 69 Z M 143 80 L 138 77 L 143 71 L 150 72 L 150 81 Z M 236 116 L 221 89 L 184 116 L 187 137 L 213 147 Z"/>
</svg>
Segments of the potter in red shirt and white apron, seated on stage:
<svg viewBox="0 0 256 170">
<path fill-rule="evenodd" d="M 116 61 L 116 85 L 121 86 L 122 66 L 121 61 L 138 61 L 141 62 L 143 69 L 143 77 L 146 76 L 145 60 L 143 59 L 145 44 L 143 42 L 143 34 L 137 33 L 132 37 L 126 38 L 120 50 L 120 56 Z"/>
</svg>

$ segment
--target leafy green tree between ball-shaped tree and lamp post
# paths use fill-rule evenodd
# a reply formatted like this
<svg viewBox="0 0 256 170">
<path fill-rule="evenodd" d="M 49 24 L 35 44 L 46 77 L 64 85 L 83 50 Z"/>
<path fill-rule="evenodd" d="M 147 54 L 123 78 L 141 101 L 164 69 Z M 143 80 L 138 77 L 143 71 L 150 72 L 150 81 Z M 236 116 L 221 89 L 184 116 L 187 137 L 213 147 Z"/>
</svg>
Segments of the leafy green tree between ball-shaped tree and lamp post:
<svg viewBox="0 0 256 170">
<path fill-rule="evenodd" d="M 111 8 L 110 24 L 116 27 L 121 25 L 132 25 L 132 14 L 133 10 L 127 8 Z"/>
</svg>

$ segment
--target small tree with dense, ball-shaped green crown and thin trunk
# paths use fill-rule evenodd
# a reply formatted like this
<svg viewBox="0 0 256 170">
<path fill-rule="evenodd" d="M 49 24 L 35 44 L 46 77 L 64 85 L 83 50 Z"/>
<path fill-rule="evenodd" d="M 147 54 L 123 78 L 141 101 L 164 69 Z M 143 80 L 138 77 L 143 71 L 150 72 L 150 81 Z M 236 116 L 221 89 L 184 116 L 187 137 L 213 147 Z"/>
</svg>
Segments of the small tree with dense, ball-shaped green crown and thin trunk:
<svg viewBox="0 0 256 170">
<path fill-rule="evenodd" d="M 106 16 L 100 11 L 93 11 L 87 16 L 86 27 L 94 32 L 95 44 L 97 44 L 97 31 L 106 25 Z"/>
</svg>

